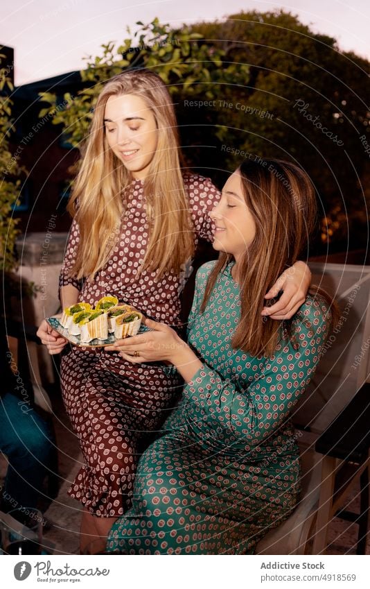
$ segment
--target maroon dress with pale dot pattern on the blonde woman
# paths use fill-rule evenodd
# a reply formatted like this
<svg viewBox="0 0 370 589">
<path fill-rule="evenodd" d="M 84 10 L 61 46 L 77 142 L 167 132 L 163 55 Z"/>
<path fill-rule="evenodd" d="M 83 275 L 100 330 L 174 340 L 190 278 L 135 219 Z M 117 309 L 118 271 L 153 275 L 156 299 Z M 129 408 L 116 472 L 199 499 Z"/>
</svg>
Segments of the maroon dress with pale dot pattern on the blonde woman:
<svg viewBox="0 0 370 589">
<path fill-rule="evenodd" d="M 210 180 L 195 174 L 184 176 L 195 228 L 195 241 L 211 241 L 209 211 L 220 198 Z M 94 280 L 83 284 L 69 277 L 79 241 L 72 223 L 60 273 L 60 286 L 80 290 L 78 300 L 94 305 L 114 295 L 168 325 L 179 325 L 179 291 L 184 275 L 168 273 L 160 281 L 155 273 L 136 271 L 146 253 L 148 223 L 143 181 L 134 180 L 124 191 L 125 212 L 121 237 L 109 262 Z M 62 396 L 82 448 L 85 464 L 69 489 L 90 513 L 118 517 L 132 502 L 136 465 L 148 436 L 160 429 L 181 391 L 173 368 L 130 364 L 118 352 L 104 348 L 66 347 L 61 365 Z"/>
</svg>

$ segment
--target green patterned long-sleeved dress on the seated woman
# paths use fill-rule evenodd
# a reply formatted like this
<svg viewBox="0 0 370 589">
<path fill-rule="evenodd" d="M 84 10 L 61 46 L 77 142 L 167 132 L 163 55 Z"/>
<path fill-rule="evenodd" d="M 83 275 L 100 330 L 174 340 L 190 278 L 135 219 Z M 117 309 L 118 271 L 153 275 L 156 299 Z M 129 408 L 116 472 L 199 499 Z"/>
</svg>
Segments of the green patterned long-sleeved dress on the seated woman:
<svg viewBox="0 0 370 589">
<path fill-rule="evenodd" d="M 289 416 L 319 361 L 327 309 L 308 296 L 294 316 L 294 342 L 270 359 L 231 345 L 240 318 L 229 264 L 204 313 L 214 262 L 197 273 L 188 343 L 204 364 L 184 387 L 166 434 L 143 453 L 132 508 L 109 533 L 109 552 L 252 554 L 299 495 L 299 451 Z"/>
</svg>

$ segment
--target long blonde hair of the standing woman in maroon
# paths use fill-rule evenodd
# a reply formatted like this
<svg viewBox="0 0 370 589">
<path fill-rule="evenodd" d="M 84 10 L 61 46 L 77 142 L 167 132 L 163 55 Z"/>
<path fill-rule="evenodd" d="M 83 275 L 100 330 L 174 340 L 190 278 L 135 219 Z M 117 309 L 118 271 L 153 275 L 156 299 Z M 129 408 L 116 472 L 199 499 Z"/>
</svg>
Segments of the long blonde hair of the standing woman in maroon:
<svg viewBox="0 0 370 589">
<path fill-rule="evenodd" d="M 132 181 L 105 136 L 105 105 L 110 96 L 140 96 L 152 110 L 158 129 L 157 150 L 144 182 L 150 234 L 139 272 L 179 273 L 194 253 L 193 226 L 180 167 L 175 110 L 161 78 L 152 71 L 125 71 L 106 83 L 98 96 L 68 210 L 80 228 L 80 243 L 71 274 L 94 278 L 107 264 L 118 237 L 118 223 L 125 207 L 124 189 Z"/>
</svg>

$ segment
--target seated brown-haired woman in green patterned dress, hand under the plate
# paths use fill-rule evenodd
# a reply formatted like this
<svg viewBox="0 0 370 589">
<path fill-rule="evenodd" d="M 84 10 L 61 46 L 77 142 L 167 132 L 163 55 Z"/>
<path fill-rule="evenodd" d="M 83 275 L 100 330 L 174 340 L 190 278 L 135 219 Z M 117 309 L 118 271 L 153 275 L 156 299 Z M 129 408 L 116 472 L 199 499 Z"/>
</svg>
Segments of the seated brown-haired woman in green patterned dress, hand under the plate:
<svg viewBox="0 0 370 589">
<path fill-rule="evenodd" d="M 133 364 L 170 361 L 186 386 L 143 453 L 132 508 L 109 551 L 252 554 L 299 496 L 290 414 L 325 343 L 328 301 L 312 292 L 291 321 L 261 318 L 265 292 L 301 255 L 315 222 L 310 180 L 289 162 L 245 162 L 211 213 L 217 262 L 197 273 L 188 343 L 168 325 L 116 342 Z M 134 354 L 134 356 L 132 356 Z"/>
</svg>

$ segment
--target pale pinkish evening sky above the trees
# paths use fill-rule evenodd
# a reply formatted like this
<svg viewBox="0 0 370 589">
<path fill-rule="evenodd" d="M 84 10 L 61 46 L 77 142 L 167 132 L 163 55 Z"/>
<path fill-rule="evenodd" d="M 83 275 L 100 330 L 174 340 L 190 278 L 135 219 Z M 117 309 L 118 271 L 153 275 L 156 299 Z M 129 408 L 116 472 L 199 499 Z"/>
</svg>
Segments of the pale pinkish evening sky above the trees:
<svg viewBox="0 0 370 589">
<path fill-rule="evenodd" d="M 283 8 L 335 37 L 340 49 L 370 59 L 369 0 L 2 0 L 1 8 L 0 44 L 15 49 L 16 85 L 82 69 L 83 56 L 99 55 L 101 44 L 127 37 L 127 25 L 156 16 L 179 26 Z"/>
</svg>

